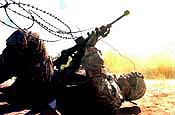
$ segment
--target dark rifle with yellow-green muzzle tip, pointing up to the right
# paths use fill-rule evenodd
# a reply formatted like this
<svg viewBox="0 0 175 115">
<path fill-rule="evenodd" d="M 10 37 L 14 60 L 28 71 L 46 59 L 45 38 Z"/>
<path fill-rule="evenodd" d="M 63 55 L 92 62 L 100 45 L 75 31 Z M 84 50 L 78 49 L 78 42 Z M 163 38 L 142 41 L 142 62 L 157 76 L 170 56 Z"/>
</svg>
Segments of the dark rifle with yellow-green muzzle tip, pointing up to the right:
<svg viewBox="0 0 175 115">
<path fill-rule="evenodd" d="M 76 45 L 69 49 L 63 50 L 61 52 L 61 56 L 54 62 L 54 65 L 56 65 L 57 69 L 60 69 L 61 64 L 66 64 L 70 56 L 72 58 L 72 61 L 70 62 L 69 66 L 66 67 L 66 70 L 69 70 L 70 73 L 74 73 L 81 64 L 81 59 L 84 55 L 85 48 L 94 47 L 97 41 L 99 41 L 100 37 L 104 38 L 109 34 L 110 28 L 114 23 L 127 15 L 129 15 L 129 10 L 126 10 L 123 15 L 107 24 L 106 26 L 95 28 L 95 31 L 92 31 L 91 33 L 88 32 L 88 37 L 86 39 L 84 39 L 82 36 L 78 37 L 75 40 Z"/>
</svg>

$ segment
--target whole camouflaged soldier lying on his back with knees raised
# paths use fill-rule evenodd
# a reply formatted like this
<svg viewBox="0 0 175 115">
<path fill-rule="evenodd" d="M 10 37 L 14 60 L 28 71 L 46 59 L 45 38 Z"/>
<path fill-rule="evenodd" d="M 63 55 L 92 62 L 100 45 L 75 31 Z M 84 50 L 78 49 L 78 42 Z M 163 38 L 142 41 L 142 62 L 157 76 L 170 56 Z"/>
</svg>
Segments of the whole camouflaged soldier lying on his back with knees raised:
<svg viewBox="0 0 175 115">
<path fill-rule="evenodd" d="M 64 54 L 63 57 L 71 56 L 72 62 L 65 69 L 65 73 L 60 74 L 58 72 L 55 76 L 66 74 L 68 77 L 83 77 L 74 73 L 82 65 L 86 72 L 86 78 L 88 78 L 88 80 L 85 79 L 87 80 L 85 85 L 75 84 L 74 87 L 74 85 L 68 84 L 65 88 L 66 91 L 61 90 L 63 94 L 54 93 L 58 97 L 62 96 L 61 100 L 57 98 L 58 109 L 62 106 L 61 112 L 64 115 L 77 114 L 75 109 L 81 111 L 79 115 L 96 115 L 102 110 L 106 110 L 106 114 L 112 114 L 120 108 L 123 101 L 132 101 L 144 95 L 146 87 L 143 81 L 144 77 L 140 73 L 134 72 L 122 75 L 119 78 L 114 78 L 107 74 L 102 54 L 100 50 L 95 48 L 95 44 L 100 37 L 107 36 L 109 30 L 109 26 L 96 28 L 91 34 L 88 33 L 87 39 L 77 42 L 79 44 L 62 52 L 62 55 Z M 60 84 L 57 81 L 52 82 L 53 65 L 38 34 L 23 30 L 15 31 L 7 39 L 7 48 L 3 51 L 0 58 L 0 67 L 2 69 L 3 67 L 6 68 L 7 77 L 17 77 L 16 82 L 13 84 L 17 92 L 16 97 L 28 100 L 36 105 L 47 105 L 48 100 L 53 96 L 53 92 L 59 92 L 57 87 Z M 58 64 L 57 68 L 60 70 L 60 65 L 66 63 L 67 60 L 56 61 L 55 64 Z M 71 87 L 71 89 L 67 89 L 68 87 Z M 34 92 L 37 92 L 37 94 Z M 65 103 L 65 101 L 67 102 Z M 79 106 L 77 106 L 78 104 Z M 72 109 L 73 111 L 69 107 L 74 108 Z M 90 113 L 87 112 L 88 110 Z"/>
</svg>

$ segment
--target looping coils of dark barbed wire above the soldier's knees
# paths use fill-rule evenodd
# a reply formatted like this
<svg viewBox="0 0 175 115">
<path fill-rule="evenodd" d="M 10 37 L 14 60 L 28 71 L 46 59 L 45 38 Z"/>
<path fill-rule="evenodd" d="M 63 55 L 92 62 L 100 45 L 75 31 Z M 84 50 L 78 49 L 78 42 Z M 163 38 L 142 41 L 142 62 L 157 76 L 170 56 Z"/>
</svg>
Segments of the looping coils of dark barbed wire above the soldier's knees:
<svg viewBox="0 0 175 115">
<path fill-rule="evenodd" d="M 73 36 L 73 33 L 78 33 L 79 31 L 72 32 L 71 28 L 66 23 L 64 23 L 61 19 L 59 19 L 57 16 L 55 16 L 55 15 L 53 15 L 53 14 L 51 14 L 51 13 L 45 11 L 45 10 L 42 10 L 42 9 L 40 9 L 38 7 L 35 7 L 34 5 L 25 4 L 25 3 L 21 3 L 21 2 L 15 2 L 14 0 L 9 0 L 10 3 L 7 0 L 5 0 L 5 1 L 6 1 L 5 4 L 0 3 L 0 5 L 2 5 L 2 6 L 0 6 L 0 8 L 4 8 L 5 9 L 6 16 L 8 17 L 8 19 L 10 20 L 10 22 L 14 26 L 11 26 L 10 24 L 7 24 L 6 22 L 0 20 L 0 22 L 2 24 L 6 25 L 8 27 L 14 28 L 14 29 L 22 29 L 22 27 L 18 26 L 11 19 L 11 17 L 8 14 L 8 10 L 9 10 L 9 11 L 11 11 L 11 12 L 13 12 L 13 13 L 19 15 L 19 16 L 22 16 L 22 17 L 24 17 L 26 19 L 32 20 L 32 24 L 28 28 L 26 28 L 27 30 L 30 29 L 31 27 L 33 27 L 34 22 L 36 22 L 41 28 L 43 28 L 44 30 L 46 30 L 50 34 L 53 34 L 53 35 L 55 35 L 55 36 L 57 36 L 57 37 L 59 37 L 61 39 L 75 39 L 75 38 L 77 38 L 77 37 Z M 20 13 L 20 12 L 17 12 L 16 10 L 13 10 L 13 9 L 9 8 L 9 5 L 11 5 L 11 4 L 17 5 L 20 9 L 22 9 L 21 11 L 26 12 L 30 16 L 26 16 L 26 15 Z M 48 17 L 52 17 L 53 19 L 57 20 L 59 23 L 64 25 L 68 29 L 68 31 L 64 31 L 64 30 L 54 26 L 53 24 L 49 23 L 47 20 L 43 19 L 39 14 L 37 14 L 34 10 L 35 11 L 39 11 L 39 12 L 41 12 L 43 14 L 46 14 Z M 40 19 L 40 21 L 37 18 Z M 50 41 L 50 40 L 47 40 L 47 41 Z M 55 40 L 55 41 L 60 41 L 60 40 Z"/>
</svg>

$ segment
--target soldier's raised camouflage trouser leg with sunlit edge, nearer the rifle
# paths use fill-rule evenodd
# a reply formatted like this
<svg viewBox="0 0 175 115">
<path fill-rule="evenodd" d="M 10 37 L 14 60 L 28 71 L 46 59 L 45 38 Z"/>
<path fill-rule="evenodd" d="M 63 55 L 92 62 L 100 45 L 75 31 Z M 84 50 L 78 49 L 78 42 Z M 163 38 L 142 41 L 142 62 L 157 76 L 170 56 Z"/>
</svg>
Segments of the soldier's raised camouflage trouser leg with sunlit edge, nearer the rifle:
<svg viewBox="0 0 175 115">
<path fill-rule="evenodd" d="M 48 56 L 45 44 L 39 40 L 38 33 L 29 33 L 27 36 L 27 51 L 34 68 L 34 80 L 51 81 L 53 76 L 53 63 Z"/>
</svg>

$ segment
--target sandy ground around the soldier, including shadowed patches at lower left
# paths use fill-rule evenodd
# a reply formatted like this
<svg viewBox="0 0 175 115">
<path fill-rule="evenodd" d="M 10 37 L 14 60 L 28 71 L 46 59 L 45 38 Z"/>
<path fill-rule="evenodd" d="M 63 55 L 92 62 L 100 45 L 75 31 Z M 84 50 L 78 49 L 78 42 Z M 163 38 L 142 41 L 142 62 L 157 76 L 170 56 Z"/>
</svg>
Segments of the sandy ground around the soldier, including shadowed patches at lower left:
<svg viewBox="0 0 175 115">
<path fill-rule="evenodd" d="M 116 115 L 175 115 L 175 80 L 146 80 L 147 91 L 144 97 L 123 103 Z M 7 108 L 0 94 L 0 115 L 30 115 L 29 109 Z M 6 108 L 6 109 L 4 109 Z M 43 115 L 55 115 L 52 110 L 43 110 Z M 41 113 L 37 113 L 41 114 Z M 36 115 L 36 114 L 35 114 Z"/>
</svg>

